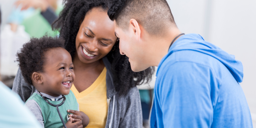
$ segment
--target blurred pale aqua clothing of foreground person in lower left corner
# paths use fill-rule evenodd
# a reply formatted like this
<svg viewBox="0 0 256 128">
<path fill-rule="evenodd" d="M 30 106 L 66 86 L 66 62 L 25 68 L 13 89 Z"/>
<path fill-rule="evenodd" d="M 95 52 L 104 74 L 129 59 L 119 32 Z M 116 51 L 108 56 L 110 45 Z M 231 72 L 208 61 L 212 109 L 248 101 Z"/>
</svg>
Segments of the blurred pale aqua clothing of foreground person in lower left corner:
<svg viewBox="0 0 256 128">
<path fill-rule="evenodd" d="M 0 103 L 1 128 L 42 128 L 36 117 L 24 106 L 19 95 L 13 93 L 2 81 L 0 81 Z"/>
</svg>

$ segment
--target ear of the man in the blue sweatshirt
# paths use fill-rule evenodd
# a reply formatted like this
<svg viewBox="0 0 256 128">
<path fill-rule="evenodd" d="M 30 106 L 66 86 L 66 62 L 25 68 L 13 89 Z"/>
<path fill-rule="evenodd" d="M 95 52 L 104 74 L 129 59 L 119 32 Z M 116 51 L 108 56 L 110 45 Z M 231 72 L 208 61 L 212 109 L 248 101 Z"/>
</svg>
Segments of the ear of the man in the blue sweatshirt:
<svg viewBox="0 0 256 128">
<path fill-rule="evenodd" d="M 137 22 L 137 20 L 135 19 L 131 19 L 129 22 L 129 28 L 131 28 L 132 33 L 136 36 L 137 40 L 140 40 L 140 36 L 141 36 L 141 28 L 142 26 L 139 25 L 139 23 Z"/>
</svg>

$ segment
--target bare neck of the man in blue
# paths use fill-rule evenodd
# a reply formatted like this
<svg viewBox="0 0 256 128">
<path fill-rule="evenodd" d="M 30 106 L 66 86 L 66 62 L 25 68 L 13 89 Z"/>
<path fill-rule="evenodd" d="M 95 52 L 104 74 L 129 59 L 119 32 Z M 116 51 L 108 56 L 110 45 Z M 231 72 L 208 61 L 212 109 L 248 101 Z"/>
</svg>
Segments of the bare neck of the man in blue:
<svg viewBox="0 0 256 128">
<path fill-rule="evenodd" d="M 151 40 L 155 44 L 154 45 L 154 47 L 155 47 L 154 54 L 155 55 L 154 55 L 154 58 L 152 61 L 152 62 L 154 62 L 153 66 L 159 65 L 162 58 L 168 53 L 169 46 L 172 43 L 173 39 L 180 34 L 181 34 L 181 32 L 178 28 L 171 28 L 161 38 Z M 177 40 L 178 38 L 176 38 L 175 40 Z"/>
</svg>

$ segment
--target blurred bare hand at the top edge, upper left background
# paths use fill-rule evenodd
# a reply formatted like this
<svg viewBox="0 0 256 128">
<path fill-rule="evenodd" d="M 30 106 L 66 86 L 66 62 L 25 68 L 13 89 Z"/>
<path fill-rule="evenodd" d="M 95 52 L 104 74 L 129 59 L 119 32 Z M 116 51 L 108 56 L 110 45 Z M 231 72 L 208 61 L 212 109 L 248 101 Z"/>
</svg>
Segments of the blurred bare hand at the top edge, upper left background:
<svg viewBox="0 0 256 128">
<path fill-rule="evenodd" d="M 42 12 L 50 6 L 46 0 L 18 0 L 14 3 L 17 7 L 21 5 L 21 10 L 26 10 L 30 7 L 35 9 L 40 8 Z"/>
</svg>

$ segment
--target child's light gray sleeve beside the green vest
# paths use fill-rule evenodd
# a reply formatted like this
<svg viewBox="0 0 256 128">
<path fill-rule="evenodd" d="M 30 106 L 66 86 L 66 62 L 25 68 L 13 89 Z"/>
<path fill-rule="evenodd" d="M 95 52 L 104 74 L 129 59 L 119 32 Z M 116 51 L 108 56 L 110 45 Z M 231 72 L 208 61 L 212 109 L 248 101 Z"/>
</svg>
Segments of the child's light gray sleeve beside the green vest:
<svg viewBox="0 0 256 128">
<path fill-rule="evenodd" d="M 36 116 L 38 122 L 44 127 L 44 119 L 42 115 L 42 110 L 35 100 L 28 100 L 25 104 L 28 109 Z"/>
</svg>

